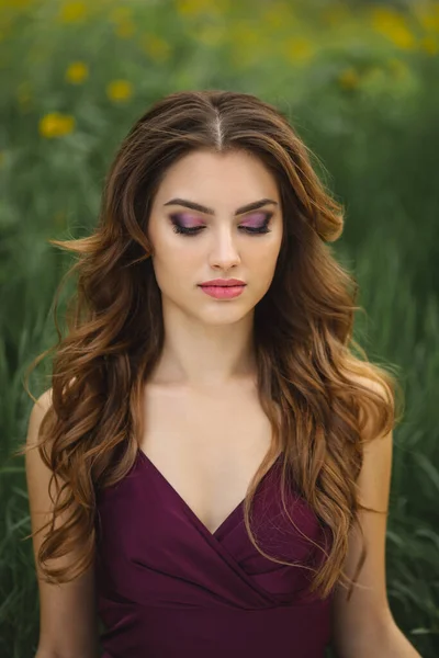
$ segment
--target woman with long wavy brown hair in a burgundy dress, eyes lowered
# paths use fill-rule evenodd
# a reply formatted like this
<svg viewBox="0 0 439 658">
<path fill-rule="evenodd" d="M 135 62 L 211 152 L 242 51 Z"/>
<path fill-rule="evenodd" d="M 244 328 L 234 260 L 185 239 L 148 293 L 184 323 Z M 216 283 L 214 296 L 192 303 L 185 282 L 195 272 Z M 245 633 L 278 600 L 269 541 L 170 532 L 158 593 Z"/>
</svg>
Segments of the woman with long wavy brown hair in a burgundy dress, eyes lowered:
<svg viewBox="0 0 439 658">
<path fill-rule="evenodd" d="M 23 449 L 38 658 L 100 655 L 98 622 L 105 658 L 418 656 L 385 586 L 398 385 L 350 351 L 342 226 L 279 110 L 196 91 L 52 240 L 79 277 Z"/>
</svg>

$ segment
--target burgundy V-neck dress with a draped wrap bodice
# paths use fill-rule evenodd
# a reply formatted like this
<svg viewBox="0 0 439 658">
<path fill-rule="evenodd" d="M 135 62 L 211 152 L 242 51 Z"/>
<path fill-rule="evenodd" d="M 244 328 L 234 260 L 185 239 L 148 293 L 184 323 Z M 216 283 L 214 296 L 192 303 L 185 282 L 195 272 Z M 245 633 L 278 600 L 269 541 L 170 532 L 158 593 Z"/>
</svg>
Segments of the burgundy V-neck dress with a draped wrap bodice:
<svg viewBox="0 0 439 658">
<path fill-rule="evenodd" d="M 270 556 L 317 566 L 324 554 L 285 517 L 280 457 L 262 479 L 251 527 Z M 227 486 L 227 483 L 224 483 Z M 297 494 L 294 523 L 330 547 Z M 123 480 L 97 492 L 95 577 L 101 658 L 323 658 L 330 603 L 306 593 L 312 572 L 251 544 L 241 501 L 211 533 L 143 451 Z"/>
</svg>

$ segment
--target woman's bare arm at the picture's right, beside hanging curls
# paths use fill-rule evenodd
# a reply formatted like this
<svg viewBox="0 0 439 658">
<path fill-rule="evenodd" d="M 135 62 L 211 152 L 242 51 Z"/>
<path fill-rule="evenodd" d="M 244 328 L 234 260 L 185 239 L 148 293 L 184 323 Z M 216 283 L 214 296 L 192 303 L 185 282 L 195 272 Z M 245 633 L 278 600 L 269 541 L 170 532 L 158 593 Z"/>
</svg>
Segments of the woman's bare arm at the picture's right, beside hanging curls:
<svg viewBox="0 0 439 658">
<path fill-rule="evenodd" d="M 363 378 L 360 379 L 364 384 Z M 374 383 L 370 385 L 383 393 Z M 384 394 L 383 394 L 384 395 Z M 389 514 L 393 433 L 364 446 L 364 460 L 357 480 L 361 504 L 385 514 L 359 511 L 367 557 L 351 598 L 336 586 L 331 609 L 333 642 L 337 658 L 421 658 L 396 625 L 387 600 L 385 581 L 385 534 Z M 361 555 L 361 536 L 351 532 L 345 574 L 353 579 Z M 349 587 L 349 586 L 348 586 Z M 363 589 L 364 588 L 364 589 Z"/>
</svg>

